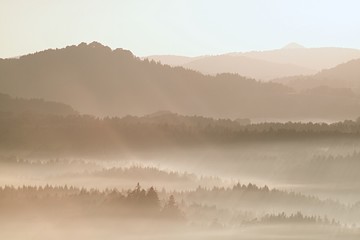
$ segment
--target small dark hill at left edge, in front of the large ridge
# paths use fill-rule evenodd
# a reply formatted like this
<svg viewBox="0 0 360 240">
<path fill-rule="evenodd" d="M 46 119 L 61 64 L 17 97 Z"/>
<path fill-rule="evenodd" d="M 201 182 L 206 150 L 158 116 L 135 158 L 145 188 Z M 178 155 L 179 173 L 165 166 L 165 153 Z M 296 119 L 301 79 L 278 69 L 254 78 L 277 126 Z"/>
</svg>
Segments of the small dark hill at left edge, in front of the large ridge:
<svg viewBox="0 0 360 240">
<path fill-rule="evenodd" d="M 13 98 L 0 93 L 0 112 L 2 113 L 34 113 L 52 115 L 74 115 L 77 112 L 63 103 L 49 102 L 42 99 Z"/>
</svg>

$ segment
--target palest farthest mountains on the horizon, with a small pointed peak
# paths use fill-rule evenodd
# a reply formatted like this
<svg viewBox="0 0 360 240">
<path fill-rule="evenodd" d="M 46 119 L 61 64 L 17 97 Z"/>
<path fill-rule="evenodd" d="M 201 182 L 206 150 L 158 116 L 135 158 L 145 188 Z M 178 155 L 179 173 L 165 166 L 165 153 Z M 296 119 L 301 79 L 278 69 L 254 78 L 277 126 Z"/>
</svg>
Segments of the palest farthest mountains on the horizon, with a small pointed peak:
<svg viewBox="0 0 360 240">
<path fill-rule="evenodd" d="M 347 48 L 305 48 L 297 43 L 271 51 L 228 53 L 218 56 L 149 56 L 170 66 L 183 66 L 204 74 L 237 73 L 259 80 L 294 75 L 312 75 L 326 68 L 360 58 L 360 51 Z"/>
</svg>

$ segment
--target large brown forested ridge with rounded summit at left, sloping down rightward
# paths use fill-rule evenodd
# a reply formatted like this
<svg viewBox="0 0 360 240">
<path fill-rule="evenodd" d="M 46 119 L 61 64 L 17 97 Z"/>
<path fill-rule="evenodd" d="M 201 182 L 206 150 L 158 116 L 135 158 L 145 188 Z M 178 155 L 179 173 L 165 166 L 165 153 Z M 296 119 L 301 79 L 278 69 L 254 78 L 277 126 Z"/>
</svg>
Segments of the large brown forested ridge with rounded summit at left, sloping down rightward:
<svg viewBox="0 0 360 240">
<path fill-rule="evenodd" d="M 354 96 L 296 93 L 278 83 L 236 74 L 206 76 L 96 42 L 1 59 L 0 89 L 12 96 L 63 102 L 98 116 L 159 110 L 260 120 L 342 120 L 360 115 Z"/>
</svg>

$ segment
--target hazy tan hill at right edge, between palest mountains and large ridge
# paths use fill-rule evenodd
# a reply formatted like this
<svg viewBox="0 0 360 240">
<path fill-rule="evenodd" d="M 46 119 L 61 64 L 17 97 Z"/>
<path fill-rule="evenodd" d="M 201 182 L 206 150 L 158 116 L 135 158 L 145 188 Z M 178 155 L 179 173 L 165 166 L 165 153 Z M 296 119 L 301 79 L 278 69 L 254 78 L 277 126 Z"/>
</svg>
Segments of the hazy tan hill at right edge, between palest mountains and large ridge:
<svg viewBox="0 0 360 240">
<path fill-rule="evenodd" d="M 351 60 L 312 76 L 293 76 L 275 79 L 297 90 L 328 87 L 351 89 L 360 93 L 360 59 Z"/>
</svg>

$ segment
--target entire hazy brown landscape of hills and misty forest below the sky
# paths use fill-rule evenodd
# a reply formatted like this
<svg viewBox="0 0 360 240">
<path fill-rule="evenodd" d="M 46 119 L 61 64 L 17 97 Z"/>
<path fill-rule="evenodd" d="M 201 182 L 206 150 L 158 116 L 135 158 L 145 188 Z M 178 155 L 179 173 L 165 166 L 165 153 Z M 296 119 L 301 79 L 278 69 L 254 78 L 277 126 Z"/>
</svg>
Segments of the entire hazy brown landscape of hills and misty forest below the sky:
<svg viewBox="0 0 360 240">
<path fill-rule="evenodd" d="M 359 60 L 258 62 L 310 50 L 0 59 L 0 239 L 359 239 Z"/>
</svg>

